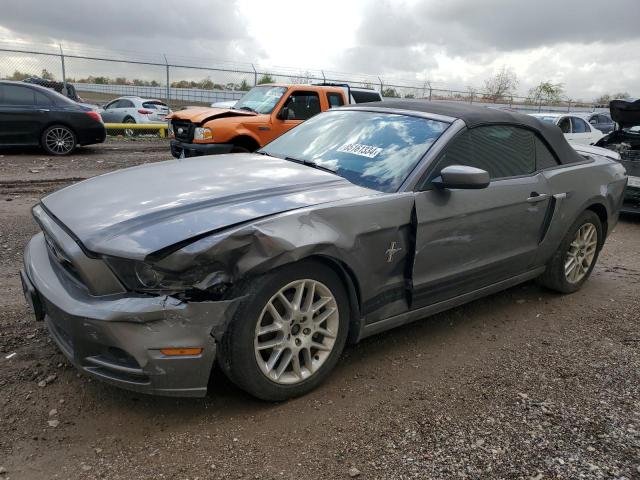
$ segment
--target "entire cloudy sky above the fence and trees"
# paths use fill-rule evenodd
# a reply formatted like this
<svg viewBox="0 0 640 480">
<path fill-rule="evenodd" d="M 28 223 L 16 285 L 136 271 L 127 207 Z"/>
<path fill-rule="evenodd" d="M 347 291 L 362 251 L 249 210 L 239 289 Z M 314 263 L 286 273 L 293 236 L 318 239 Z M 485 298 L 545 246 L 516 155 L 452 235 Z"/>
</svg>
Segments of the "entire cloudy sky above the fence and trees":
<svg viewBox="0 0 640 480">
<path fill-rule="evenodd" d="M 523 94 L 550 80 L 571 98 L 592 99 L 640 96 L 639 21 L 640 0 L 21 0 L 2 7 L 0 46 L 62 43 L 462 89 L 506 65 Z"/>
</svg>

